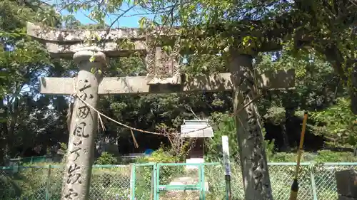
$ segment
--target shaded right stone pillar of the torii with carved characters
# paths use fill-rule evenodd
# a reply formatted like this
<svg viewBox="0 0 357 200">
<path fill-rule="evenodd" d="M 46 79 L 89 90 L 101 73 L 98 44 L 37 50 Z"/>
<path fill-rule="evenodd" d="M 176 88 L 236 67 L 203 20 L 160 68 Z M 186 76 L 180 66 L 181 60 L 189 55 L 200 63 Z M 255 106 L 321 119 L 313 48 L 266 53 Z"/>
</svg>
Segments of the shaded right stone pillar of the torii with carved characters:
<svg viewBox="0 0 357 200">
<path fill-rule="evenodd" d="M 252 56 L 231 53 L 229 68 L 233 82 L 233 112 L 256 96 Z M 238 146 L 246 200 L 272 200 L 263 132 L 253 102 L 236 115 Z"/>
</svg>

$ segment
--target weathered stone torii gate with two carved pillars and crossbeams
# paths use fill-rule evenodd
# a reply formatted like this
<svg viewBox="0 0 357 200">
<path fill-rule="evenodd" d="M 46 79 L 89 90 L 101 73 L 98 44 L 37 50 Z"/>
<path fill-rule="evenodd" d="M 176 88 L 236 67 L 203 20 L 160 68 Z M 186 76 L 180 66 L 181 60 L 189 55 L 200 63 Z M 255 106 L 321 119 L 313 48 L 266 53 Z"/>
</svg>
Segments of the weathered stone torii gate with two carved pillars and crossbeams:
<svg viewBox="0 0 357 200">
<path fill-rule="evenodd" d="M 76 94 L 92 107 L 96 107 L 99 95 L 143 94 L 143 93 L 190 93 L 233 90 L 234 109 L 253 100 L 256 88 L 292 88 L 295 84 L 293 70 L 272 71 L 258 75 L 254 81 L 252 56 L 233 52 L 229 64 L 231 73 L 201 75 L 188 78 L 181 75 L 178 62 L 161 50 L 161 46 L 149 46 L 154 36 L 142 34 L 139 28 L 107 30 L 64 30 L 27 23 L 27 34 L 44 43 L 52 58 L 69 58 L 79 65 L 76 78 L 40 78 L 41 93 L 47 95 Z M 101 37 L 101 44 L 85 43 L 84 39 L 94 34 Z M 114 41 L 131 38 L 133 48 L 120 48 Z M 139 51 L 145 56 L 148 70 L 146 76 L 102 77 L 106 58 L 126 57 Z M 96 71 L 93 71 L 96 69 Z M 244 78 L 243 78 L 244 77 Z M 241 145 L 242 170 L 253 174 L 243 180 L 246 191 L 252 196 L 271 191 L 263 149 L 261 125 L 256 120 L 258 113 L 254 104 L 243 109 L 236 117 L 238 143 Z M 241 124 L 238 123 L 241 121 Z M 94 159 L 94 136 L 97 113 L 79 98 L 74 102 L 69 130 L 68 160 L 64 174 L 61 199 L 88 200 L 91 167 Z M 251 144 L 248 144 L 251 142 Z M 251 154 L 249 157 L 242 155 Z M 251 179 L 251 180 L 248 180 Z M 253 184 L 251 184 L 253 183 Z M 253 197 L 252 197 L 253 198 Z M 247 200 L 252 199 L 246 196 Z M 269 197 L 268 197 L 269 199 Z"/>
</svg>

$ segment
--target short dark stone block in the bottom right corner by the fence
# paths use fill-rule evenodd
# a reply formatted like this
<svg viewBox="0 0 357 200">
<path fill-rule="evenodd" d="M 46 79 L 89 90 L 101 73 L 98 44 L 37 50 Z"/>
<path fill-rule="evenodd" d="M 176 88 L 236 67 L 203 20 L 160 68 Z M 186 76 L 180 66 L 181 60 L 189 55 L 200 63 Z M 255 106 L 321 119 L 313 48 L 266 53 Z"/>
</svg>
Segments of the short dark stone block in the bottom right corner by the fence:
<svg viewBox="0 0 357 200">
<path fill-rule="evenodd" d="M 357 200 L 357 170 L 339 171 L 335 176 L 338 200 Z"/>
</svg>

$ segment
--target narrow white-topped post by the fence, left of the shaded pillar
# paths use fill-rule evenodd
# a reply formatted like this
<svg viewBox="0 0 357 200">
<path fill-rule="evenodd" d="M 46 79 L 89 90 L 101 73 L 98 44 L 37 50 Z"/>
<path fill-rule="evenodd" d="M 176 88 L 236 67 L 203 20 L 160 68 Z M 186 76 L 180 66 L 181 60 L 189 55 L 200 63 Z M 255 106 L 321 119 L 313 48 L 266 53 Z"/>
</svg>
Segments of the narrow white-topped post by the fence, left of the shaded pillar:
<svg viewBox="0 0 357 200">
<path fill-rule="evenodd" d="M 225 180 L 226 180 L 226 199 L 231 200 L 231 162 L 229 161 L 229 143 L 228 136 L 222 136 L 222 152 L 223 152 L 223 164 L 226 169 Z"/>
</svg>

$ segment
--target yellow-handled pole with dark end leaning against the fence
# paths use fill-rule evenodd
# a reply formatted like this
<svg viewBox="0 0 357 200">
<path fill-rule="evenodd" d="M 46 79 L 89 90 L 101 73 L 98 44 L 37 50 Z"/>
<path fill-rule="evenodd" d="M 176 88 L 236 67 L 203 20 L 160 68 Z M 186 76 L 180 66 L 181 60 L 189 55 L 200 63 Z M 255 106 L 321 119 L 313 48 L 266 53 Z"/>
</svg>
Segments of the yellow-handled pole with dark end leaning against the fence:
<svg viewBox="0 0 357 200">
<path fill-rule="evenodd" d="M 298 147 L 298 156 L 296 161 L 296 169 L 293 177 L 293 184 L 291 185 L 290 199 L 298 199 L 298 169 L 300 168 L 301 154 L 303 153 L 303 138 L 305 137 L 306 122 L 308 120 L 308 112 L 303 115 L 303 129 L 301 130 L 300 145 Z"/>
</svg>

